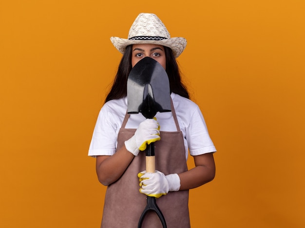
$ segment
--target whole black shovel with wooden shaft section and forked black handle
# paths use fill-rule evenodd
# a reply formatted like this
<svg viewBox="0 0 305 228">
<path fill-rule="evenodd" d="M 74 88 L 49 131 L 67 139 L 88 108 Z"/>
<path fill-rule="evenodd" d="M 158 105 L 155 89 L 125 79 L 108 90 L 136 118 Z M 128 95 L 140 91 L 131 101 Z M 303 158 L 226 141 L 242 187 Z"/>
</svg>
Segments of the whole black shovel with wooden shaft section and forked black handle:
<svg viewBox="0 0 305 228">
<path fill-rule="evenodd" d="M 127 112 L 141 113 L 145 118 L 152 119 L 157 112 L 171 111 L 169 78 L 164 68 L 151 57 L 145 57 L 134 65 L 127 80 Z M 146 172 L 155 172 L 154 143 L 147 145 Z M 166 222 L 156 204 L 156 198 L 147 196 L 147 205 L 141 214 L 138 228 L 149 210 L 158 215 L 163 228 Z"/>
</svg>

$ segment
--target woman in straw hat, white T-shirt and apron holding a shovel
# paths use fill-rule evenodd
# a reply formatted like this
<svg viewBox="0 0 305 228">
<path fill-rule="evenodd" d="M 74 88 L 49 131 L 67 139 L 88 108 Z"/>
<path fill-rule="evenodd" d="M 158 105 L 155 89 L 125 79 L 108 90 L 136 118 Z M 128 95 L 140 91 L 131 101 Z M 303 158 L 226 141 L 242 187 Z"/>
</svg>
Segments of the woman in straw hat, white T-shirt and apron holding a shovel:
<svg viewBox="0 0 305 228">
<path fill-rule="evenodd" d="M 146 195 L 150 195 L 157 198 L 168 228 L 189 228 L 189 189 L 214 178 L 216 149 L 198 105 L 189 100 L 181 82 L 175 59 L 185 49 L 186 40 L 171 38 L 156 15 L 141 13 L 128 39 L 111 37 L 111 41 L 123 56 L 89 148 L 89 156 L 96 158 L 98 180 L 108 186 L 101 227 L 136 228 Z M 159 62 L 170 82 L 172 112 L 158 112 L 156 119 L 127 114 L 127 78 L 144 57 Z M 146 173 L 143 150 L 151 142 L 155 142 L 157 171 Z M 188 151 L 195 163 L 191 170 L 186 164 Z M 142 227 L 162 226 L 152 212 Z"/>
</svg>

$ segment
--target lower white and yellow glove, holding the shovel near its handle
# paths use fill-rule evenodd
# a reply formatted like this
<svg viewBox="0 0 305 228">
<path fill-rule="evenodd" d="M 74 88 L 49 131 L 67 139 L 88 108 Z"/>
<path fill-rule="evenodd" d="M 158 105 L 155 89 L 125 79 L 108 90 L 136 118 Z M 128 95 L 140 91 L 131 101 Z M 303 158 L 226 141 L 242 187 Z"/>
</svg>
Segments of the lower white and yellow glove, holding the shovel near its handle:
<svg viewBox="0 0 305 228">
<path fill-rule="evenodd" d="M 147 173 L 143 171 L 138 174 L 140 180 L 140 193 L 159 198 L 171 191 L 180 189 L 180 177 L 178 174 L 164 175 L 156 171 Z"/>
</svg>

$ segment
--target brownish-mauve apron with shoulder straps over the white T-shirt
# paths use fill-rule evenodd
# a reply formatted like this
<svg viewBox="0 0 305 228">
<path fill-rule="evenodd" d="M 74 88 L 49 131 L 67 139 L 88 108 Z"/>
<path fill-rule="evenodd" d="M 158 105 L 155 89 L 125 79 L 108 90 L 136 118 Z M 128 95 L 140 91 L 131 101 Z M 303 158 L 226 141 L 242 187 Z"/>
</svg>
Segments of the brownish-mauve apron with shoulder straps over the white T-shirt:
<svg viewBox="0 0 305 228">
<path fill-rule="evenodd" d="M 185 158 L 183 134 L 172 105 L 172 115 L 177 127 L 176 132 L 160 132 L 161 140 L 155 145 L 155 168 L 165 175 L 182 173 L 188 170 Z M 118 133 L 117 149 L 130 139 L 135 129 L 126 129 L 129 114 L 125 115 Z M 145 170 L 145 152 L 133 158 L 125 173 L 109 185 L 105 195 L 101 228 L 137 228 L 140 216 L 146 206 L 146 195 L 139 192 L 137 174 Z M 169 192 L 156 199 L 168 228 L 190 228 L 189 191 Z M 159 217 L 154 211 L 145 216 L 142 228 L 162 228 Z"/>
</svg>

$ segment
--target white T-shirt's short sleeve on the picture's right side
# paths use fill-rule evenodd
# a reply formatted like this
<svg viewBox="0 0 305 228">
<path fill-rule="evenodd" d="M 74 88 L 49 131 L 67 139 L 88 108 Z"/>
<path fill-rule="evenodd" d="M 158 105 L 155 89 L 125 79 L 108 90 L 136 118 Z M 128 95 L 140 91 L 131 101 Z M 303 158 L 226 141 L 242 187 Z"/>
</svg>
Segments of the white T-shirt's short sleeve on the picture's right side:
<svg viewBox="0 0 305 228">
<path fill-rule="evenodd" d="M 186 128 L 186 138 L 191 156 L 216 152 L 216 148 L 210 139 L 206 122 L 198 106 L 194 109 L 191 121 Z"/>
</svg>

